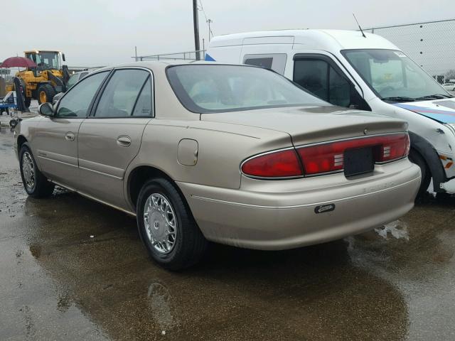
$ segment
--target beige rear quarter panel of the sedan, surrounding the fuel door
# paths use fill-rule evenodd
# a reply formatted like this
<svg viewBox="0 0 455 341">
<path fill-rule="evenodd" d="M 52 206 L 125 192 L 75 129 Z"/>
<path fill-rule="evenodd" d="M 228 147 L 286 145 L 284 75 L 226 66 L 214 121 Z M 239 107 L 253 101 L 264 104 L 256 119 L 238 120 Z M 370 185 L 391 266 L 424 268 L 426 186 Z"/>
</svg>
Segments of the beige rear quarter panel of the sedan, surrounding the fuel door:
<svg viewBox="0 0 455 341">
<path fill-rule="evenodd" d="M 178 163 L 178 143 L 198 141 L 195 166 Z M 153 166 L 174 181 L 240 188 L 240 163 L 252 155 L 291 146 L 289 134 L 236 124 L 205 121 L 152 120 L 127 176 L 138 166 Z"/>
</svg>

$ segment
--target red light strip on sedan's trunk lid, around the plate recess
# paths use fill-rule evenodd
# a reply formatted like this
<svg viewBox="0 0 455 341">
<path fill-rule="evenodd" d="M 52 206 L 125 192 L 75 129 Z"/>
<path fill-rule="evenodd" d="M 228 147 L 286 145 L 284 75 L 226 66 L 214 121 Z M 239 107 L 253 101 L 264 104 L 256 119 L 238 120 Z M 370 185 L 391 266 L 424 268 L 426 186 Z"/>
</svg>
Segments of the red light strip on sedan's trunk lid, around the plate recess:
<svg viewBox="0 0 455 341">
<path fill-rule="evenodd" d="M 335 141 L 328 144 L 297 148 L 306 175 L 341 171 L 344 152 L 355 148 L 373 148 L 376 163 L 393 161 L 407 156 L 410 139 L 407 134 L 371 136 L 361 139 Z"/>
</svg>

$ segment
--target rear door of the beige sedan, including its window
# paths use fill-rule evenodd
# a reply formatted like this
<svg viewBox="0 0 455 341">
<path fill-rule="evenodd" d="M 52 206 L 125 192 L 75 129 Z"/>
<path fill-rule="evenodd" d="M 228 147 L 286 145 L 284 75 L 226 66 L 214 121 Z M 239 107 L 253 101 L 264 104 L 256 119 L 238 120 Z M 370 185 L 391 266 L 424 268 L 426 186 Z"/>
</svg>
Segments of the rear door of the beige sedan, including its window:
<svg viewBox="0 0 455 341">
<path fill-rule="evenodd" d="M 114 70 L 79 131 L 80 187 L 90 195 L 127 208 L 123 183 L 153 115 L 153 75 L 141 68 Z"/>
</svg>

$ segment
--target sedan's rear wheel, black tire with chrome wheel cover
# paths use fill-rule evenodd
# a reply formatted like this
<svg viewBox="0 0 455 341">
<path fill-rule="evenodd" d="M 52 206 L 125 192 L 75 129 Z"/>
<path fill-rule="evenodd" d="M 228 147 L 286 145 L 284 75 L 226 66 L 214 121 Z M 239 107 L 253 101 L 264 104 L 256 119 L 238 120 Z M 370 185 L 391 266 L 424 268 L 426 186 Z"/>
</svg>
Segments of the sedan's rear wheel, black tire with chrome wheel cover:
<svg viewBox="0 0 455 341">
<path fill-rule="evenodd" d="M 139 235 L 149 255 L 166 269 L 196 264 L 207 241 L 183 197 L 164 178 L 147 181 L 137 201 Z"/>
</svg>

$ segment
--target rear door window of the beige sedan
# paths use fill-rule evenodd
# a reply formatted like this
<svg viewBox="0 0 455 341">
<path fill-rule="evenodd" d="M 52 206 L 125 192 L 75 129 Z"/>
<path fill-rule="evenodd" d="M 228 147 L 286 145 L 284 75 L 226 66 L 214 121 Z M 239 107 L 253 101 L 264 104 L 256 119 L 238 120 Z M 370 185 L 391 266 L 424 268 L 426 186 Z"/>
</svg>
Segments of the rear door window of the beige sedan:
<svg viewBox="0 0 455 341">
<path fill-rule="evenodd" d="M 104 92 L 102 93 L 100 102 L 95 112 L 95 117 L 129 117 L 132 116 L 134 107 L 139 102 L 138 111 L 146 110 L 144 105 L 146 101 L 151 103 L 151 88 L 148 88 L 149 93 L 139 97 L 139 93 L 143 90 L 146 82 L 149 82 L 150 72 L 145 70 L 117 70 L 110 78 Z M 147 96 L 148 95 L 148 96 Z M 140 101 L 139 101 L 140 99 Z M 149 104 L 150 105 L 150 104 Z M 149 116 L 139 115 L 139 112 L 134 112 L 134 116 Z"/>
</svg>

